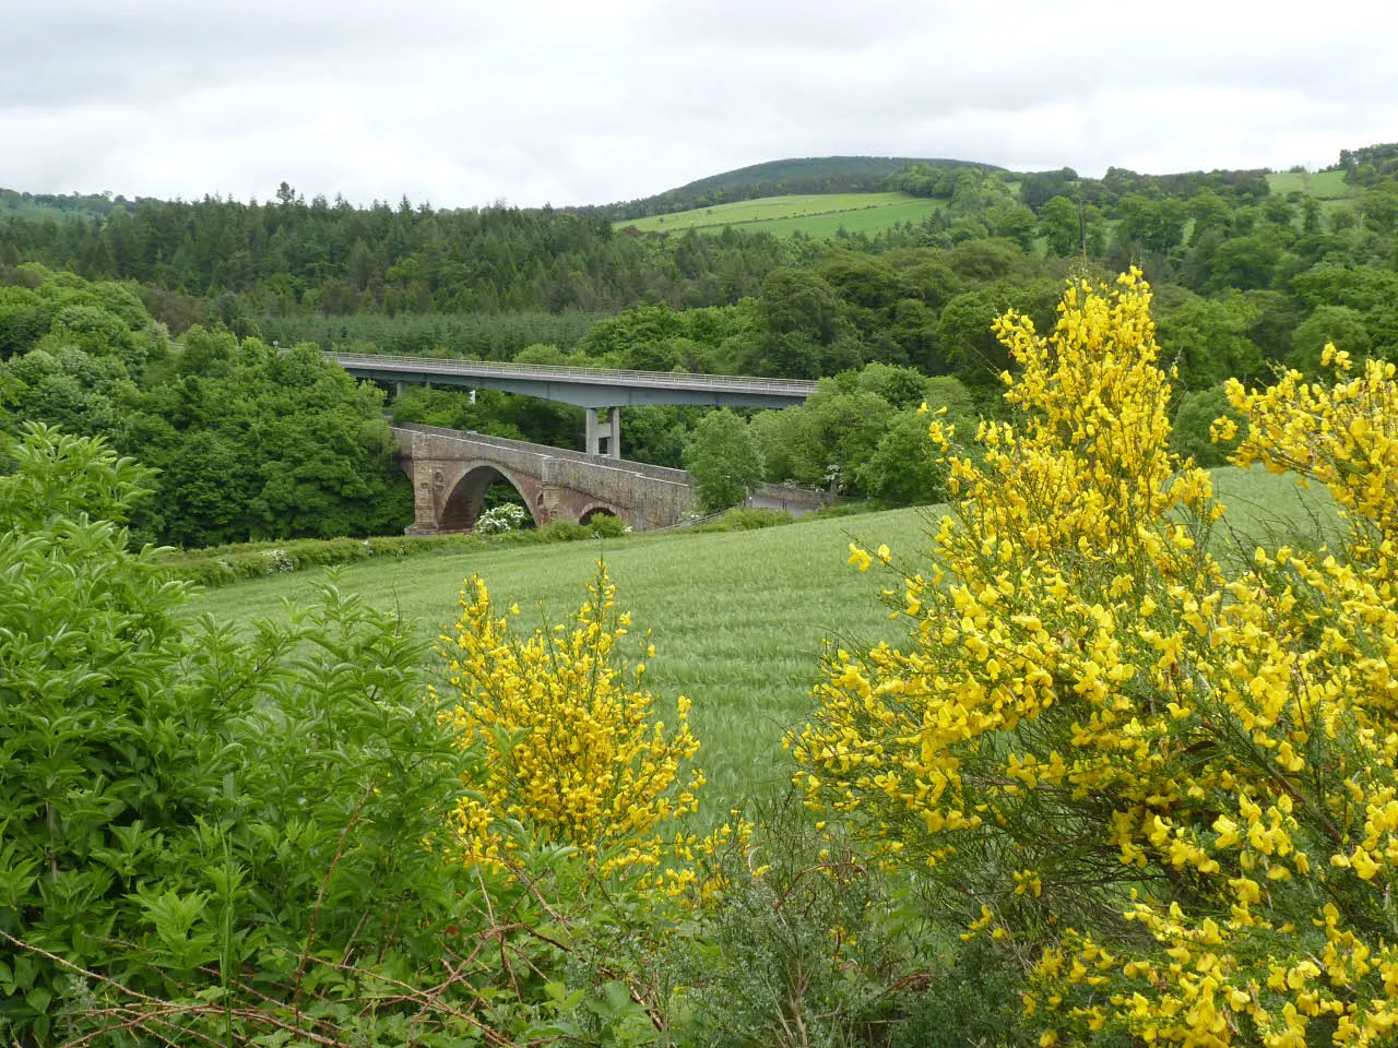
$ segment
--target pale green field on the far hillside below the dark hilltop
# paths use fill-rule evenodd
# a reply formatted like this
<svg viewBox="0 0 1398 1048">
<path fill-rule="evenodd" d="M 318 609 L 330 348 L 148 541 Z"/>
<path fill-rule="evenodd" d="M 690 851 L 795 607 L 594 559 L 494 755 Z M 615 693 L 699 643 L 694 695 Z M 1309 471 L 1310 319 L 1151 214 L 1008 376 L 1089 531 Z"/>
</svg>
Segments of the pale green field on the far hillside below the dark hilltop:
<svg viewBox="0 0 1398 1048">
<path fill-rule="evenodd" d="M 800 231 L 826 238 L 843 226 L 847 232 L 875 232 L 895 222 L 921 222 L 941 207 L 939 201 L 906 193 L 829 193 L 804 197 L 763 197 L 733 204 L 678 211 L 617 222 L 618 229 L 633 226 L 644 232 L 684 232 L 726 225 L 741 225 L 748 232 L 790 236 Z"/>
</svg>

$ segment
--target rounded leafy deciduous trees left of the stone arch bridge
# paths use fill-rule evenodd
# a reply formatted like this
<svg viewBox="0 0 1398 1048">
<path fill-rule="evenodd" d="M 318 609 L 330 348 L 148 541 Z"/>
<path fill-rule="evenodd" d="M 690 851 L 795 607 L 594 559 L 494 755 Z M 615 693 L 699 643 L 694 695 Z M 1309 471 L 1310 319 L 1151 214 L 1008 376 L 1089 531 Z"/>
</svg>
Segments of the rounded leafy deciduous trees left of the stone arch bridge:
<svg viewBox="0 0 1398 1048">
<path fill-rule="evenodd" d="M 25 286 L 0 288 L 15 349 L 0 362 L 0 428 L 34 419 L 106 436 L 158 468 L 133 520 L 141 538 L 210 546 L 407 523 L 382 395 L 315 347 L 280 352 L 199 326 L 171 347 L 130 288 L 21 270 Z"/>
</svg>

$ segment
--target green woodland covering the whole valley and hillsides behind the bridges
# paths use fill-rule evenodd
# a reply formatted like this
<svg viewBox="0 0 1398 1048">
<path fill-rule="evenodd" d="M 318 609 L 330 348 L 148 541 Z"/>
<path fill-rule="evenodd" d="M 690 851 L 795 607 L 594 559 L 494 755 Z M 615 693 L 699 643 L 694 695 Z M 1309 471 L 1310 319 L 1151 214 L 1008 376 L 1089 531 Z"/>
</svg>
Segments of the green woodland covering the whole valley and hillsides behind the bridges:
<svg viewBox="0 0 1398 1048">
<path fill-rule="evenodd" d="M 358 208 L 285 183 L 261 204 L 10 194 L 3 425 L 108 436 L 162 471 L 137 534 L 208 545 L 407 523 L 382 394 L 305 344 L 828 379 L 802 408 L 749 414 L 759 472 L 889 504 L 939 490 L 909 454 L 917 405 L 948 407 L 963 436 L 998 411 L 1011 362 L 991 320 L 1016 309 L 1044 328 L 1068 275 L 1144 268 L 1177 367 L 1176 439 L 1202 461 L 1220 454 L 1206 433 L 1225 379 L 1314 372 L 1329 341 L 1398 359 L 1395 145 L 1342 154 L 1349 196 L 1334 200 L 1269 193 L 1254 170 L 1085 179 L 913 162 L 874 177 L 811 163 L 693 186 L 737 198 L 809 177 L 945 207 L 826 242 L 614 231 L 607 208 Z M 387 407 L 561 446 L 582 436 L 576 409 L 506 394 L 410 390 Z M 628 457 L 684 464 L 702 415 L 626 409 Z"/>
</svg>

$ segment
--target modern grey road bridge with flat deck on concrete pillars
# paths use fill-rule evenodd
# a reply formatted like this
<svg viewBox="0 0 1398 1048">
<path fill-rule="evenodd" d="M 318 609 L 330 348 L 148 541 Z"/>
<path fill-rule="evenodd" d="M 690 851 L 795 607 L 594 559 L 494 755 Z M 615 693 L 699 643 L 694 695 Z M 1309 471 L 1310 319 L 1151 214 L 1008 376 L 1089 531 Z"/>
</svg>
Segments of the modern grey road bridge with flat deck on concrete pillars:
<svg viewBox="0 0 1398 1048">
<path fill-rule="evenodd" d="M 544 397 L 587 409 L 587 451 L 621 458 L 618 408 L 636 404 L 699 404 L 716 408 L 786 408 L 804 404 L 815 383 L 804 379 L 758 379 L 745 374 L 624 372 L 605 367 L 549 367 L 493 361 L 447 361 L 431 356 L 382 356 L 327 352 L 356 379 L 436 383 Z M 600 414 L 601 412 L 601 414 Z M 605 430 L 604 430 L 605 428 Z M 605 443 L 605 451 L 603 450 Z"/>
</svg>

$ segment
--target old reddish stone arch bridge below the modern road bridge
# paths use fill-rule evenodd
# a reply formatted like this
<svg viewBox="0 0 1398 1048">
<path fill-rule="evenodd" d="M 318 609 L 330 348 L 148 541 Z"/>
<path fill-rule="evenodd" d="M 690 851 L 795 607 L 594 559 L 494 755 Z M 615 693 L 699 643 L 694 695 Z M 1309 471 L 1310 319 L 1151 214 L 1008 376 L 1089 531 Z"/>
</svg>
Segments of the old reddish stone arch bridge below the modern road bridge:
<svg viewBox="0 0 1398 1048">
<path fill-rule="evenodd" d="M 524 496 L 538 527 L 555 520 L 586 524 L 607 513 L 635 531 L 654 531 L 678 524 L 693 506 L 684 470 L 436 426 L 400 425 L 393 433 L 403 470 L 412 478 L 410 535 L 470 531 L 485 492 L 502 476 Z M 797 516 L 829 502 L 819 492 L 777 485 L 766 485 L 749 499 L 749 504 Z"/>
</svg>

